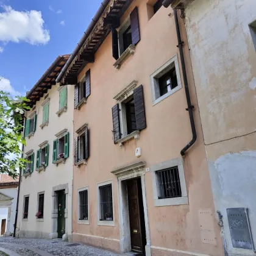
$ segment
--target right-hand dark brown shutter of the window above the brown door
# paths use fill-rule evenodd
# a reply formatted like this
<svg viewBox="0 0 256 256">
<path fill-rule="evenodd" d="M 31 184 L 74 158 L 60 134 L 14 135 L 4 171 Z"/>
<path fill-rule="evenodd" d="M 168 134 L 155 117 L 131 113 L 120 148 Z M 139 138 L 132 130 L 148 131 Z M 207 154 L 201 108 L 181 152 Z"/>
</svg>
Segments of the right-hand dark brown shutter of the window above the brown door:
<svg viewBox="0 0 256 256">
<path fill-rule="evenodd" d="M 146 128 L 146 116 L 144 108 L 144 96 L 143 86 L 140 85 L 133 91 L 134 105 L 135 105 L 135 117 L 137 130 L 143 130 Z"/>
</svg>

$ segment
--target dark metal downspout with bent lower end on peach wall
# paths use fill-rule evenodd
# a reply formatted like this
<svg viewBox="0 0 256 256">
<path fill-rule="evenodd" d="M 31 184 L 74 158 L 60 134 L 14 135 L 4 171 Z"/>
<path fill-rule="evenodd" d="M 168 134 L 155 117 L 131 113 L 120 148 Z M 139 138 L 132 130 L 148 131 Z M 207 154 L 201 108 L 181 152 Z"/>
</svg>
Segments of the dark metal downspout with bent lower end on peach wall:
<svg viewBox="0 0 256 256">
<path fill-rule="evenodd" d="M 192 140 L 180 151 L 180 154 L 183 156 L 185 155 L 185 152 L 196 142 L 196 127 L 194 125 L 194 116 L 193 116 L 193 108 L 194 106 L 191 104 L 191 99 L 190 99 L 190 90 L 188 88 L 188 78 L 187 78 L 187 73 L 186 73 L 186 66 L 185 66 L 185 60 L 184 60 L 184 55 L 183 55 L 183 41 L 181 40 L 180 37 L 180 26 L 179 26 L 179 20 L 178 20 L 178 15 L 177 15 L 177 10 L 174 9 L 174 20 L 175 20 L 175 26 L 176 26 L 176 32 L 177 32 L 177 38 L 178 38 L 178 45 L 179 51 L 180 51 L 180 62 L 182 66 L 182 74 L 183 74 L 183 80 L 184 80 L 184 87 L 185 87 L 185 93 L 186 93 L 186 98 L 187 98 L 187 103 L 188 103 L 188 108 L 186 110 L 188 111 L 188 114 L 190 116 L 190 125 L 191 125 L 191 131 L 192 131 Z"/>
</svg>

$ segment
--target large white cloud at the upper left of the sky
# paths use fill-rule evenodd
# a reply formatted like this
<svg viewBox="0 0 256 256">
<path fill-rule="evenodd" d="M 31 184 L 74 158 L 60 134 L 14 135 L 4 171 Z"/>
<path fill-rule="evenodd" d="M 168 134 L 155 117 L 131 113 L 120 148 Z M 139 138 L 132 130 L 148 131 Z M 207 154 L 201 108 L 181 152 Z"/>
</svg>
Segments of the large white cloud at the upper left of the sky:
<svg viewBox="0 0 256 256">
<path fill-rule="evenodd" d="M 25 41 L 30 44 L 46 44 L 50 40 L 49 30 L 44 29 L 41 12 L 36 10 L 19 12 L 3 5 L 0 13 L 0 41 Z"/>
</svg>

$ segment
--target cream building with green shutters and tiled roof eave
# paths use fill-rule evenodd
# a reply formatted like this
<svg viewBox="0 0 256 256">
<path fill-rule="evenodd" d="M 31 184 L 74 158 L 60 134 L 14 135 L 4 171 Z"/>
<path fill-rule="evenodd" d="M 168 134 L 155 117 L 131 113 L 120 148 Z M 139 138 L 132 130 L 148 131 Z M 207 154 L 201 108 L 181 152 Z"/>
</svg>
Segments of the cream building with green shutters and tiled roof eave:
<svg viewBox="0 0 256 256">
<path fill-rule="evenodd" d="M 55 78 L 69 55 L 60 55 L 29 91 L 16 233 L 71 240 L 74 88 Z"/>
</svg>

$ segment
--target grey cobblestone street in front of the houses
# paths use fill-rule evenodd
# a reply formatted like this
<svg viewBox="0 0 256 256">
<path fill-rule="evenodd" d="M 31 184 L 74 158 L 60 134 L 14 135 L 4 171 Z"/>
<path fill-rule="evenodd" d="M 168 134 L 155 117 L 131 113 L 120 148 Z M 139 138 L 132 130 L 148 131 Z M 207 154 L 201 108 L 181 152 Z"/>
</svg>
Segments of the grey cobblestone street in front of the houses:
<svg viewBox="0 0 256 256">
<path fill-rule="evenodd" d="M 7 251 L 4 251 L 7 250 Z M 8 251 L 9 250 L 9 251 Z M 0 251 L 10 256 L 118 256 L 115 252 L 78 243 L 67 243 L 62 240 L 24 239 L 1 237 Z M 12 252 L 12 254 L 10 253 Z"/>
</svg>

